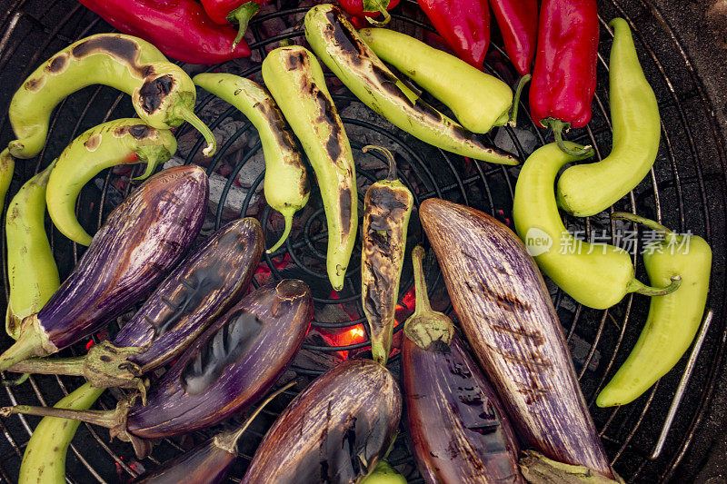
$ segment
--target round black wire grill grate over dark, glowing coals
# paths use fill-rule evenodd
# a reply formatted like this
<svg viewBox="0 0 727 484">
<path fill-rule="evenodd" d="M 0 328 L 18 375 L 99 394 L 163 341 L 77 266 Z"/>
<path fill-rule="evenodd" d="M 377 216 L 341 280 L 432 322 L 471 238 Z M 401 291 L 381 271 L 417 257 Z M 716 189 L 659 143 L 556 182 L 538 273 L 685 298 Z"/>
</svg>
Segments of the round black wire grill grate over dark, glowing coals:
<svg viewBox="0 0 727 484">
<path fill-rule="evenodd" d="M 700 333 L 698 341 L 702 341 L 702 344 L 695 345 L 694 350 L 688 352 L 652 390 L 623 408 L 599 409 L 594 405 L 595 396 L 632 349 L 646 318 L 648 299 L 630 294 L 609 310 L 595 311 L 576 304 L 551 282 L 548 284 L 571 346 L 585 399 L 614 468 L 628 482 L 663 482 L 671 479 L 675 472 L 681 472 L 679 465 L 694 436 L 700 431 L 700 423 L 712 400 L 715 382 L 722 369 L 726 344 L 722 337 L 725 330 L 723 241 L 727 206 L 724 141 L 714 118 L 712 101 L 705 94 L 702 81 L 694 73 L 670 25 L 663 20 L 650 0 L 603 0 L 600 3 L 602 32 L 599 83 L 593 105 L 593 121 L 586 128 L 573 130 L 567 137 L 577 143 L 593 144 L 598 158 L 610 151 L 607 61 L 612 35 L 607 22 L 613 16 L 622 16 L 632 26 L 644 72 L 659 100 L 662 145 L 650 176 L 625 200 L 618 202 L 614 209 L 638 212 L 675 231 L 692 231 L 712 244 L 714 262 L 708 305 L 714 311 L 714 317 L 709 328 Z M 277 5 L 265 7 L 254 17 L 246 35 L 253 51 L 252 57 L 209 66 L 205 70 L 253 76 L 260 81 L 260 63 L 266 52 L 284 39 L 304 44 L 298 22 L 310 5 L 279 0 Z M 430 43 L 437 42 L 433 36 L 433 27 L 411 0 L 403 2 L 394 12 L 393 28 Z M 74 0 L 5 0 L 0 9 L 0 109 L 3 113 L 0 118 L 0 143 L 5 144 L 13 139 L 5 115 L 7 106 L 15 88 L 35 66 L 79 38 L 110 31 L 109 25 Z M 501 48 L 502 40 L 496 35 L 485 64 L 490 71 L 512 85 L 516 81 L 514 71 L 509 67 Z M 190 66 L 190 69 L 194 74 L 203 72 L 200 66 Z M 362 153 L 360 149 L 365 144 L 379 144 L 394 153 L 399 176 L 412 190 L 417 206 L 427 198 L 444 198 L 483 210 L 512 227 L 513 189 L 518 167 L 474 162 L 433 148 L 374 114 L 333 76 L 329 75 L 327 79 L 354 149 L 362 208 L 365 190 L 385 176 L 386 165 L 383 157 L 377 153 Z M 444 109 L 436 100 L 427 99 L 436 107 Z M 521 159 L 549 141 L 544 130 L 535 128 L 526 100 L 527 96 L 523 95 L 517 128 L 499 128 L 492 133 L 494 143 L 517 153 Z M 263 223 L 267 245 L 272 245 L 282 232 L 283 219 L 264 203 L 264 160 L 257 133 L 242 114 L 204 91 L 199 92 L 197 112 L 218 135 L 218 153 L 211 160 L 204 160 L 201 156 L 204 141 L 185 125 L 176 131 L 180 150 L 169 163 L 199 163 L 211 176 L 210 211 L 203 236 L 232 218 L 248 215 L 257 217 Z M 133 115 L 128 96 L 108 87 L 90 86 L 71 95 L 55 111 L 43 152 L 35 159 L 19 160 L 16 163 L 10 195 L 30 176 L 51 163 L 78 134 L 106 120 Z M 309 169 L 309 173 L 313 172 Z M 77 214 L 89 232 L 93 233 L 108 212 L 130 192 L 133 188 L 129 182 L 132 176 L 134 173 L 128 168 L 108 170 L 85 187 Z M 294 277 L 304 280 L 312 288 L 315 301 L 314 327 L 304 343 L 304 350 L 283 377 L 284 380 L 298 378 L 300 382 L 294 390 L 286 391 L 284 397 L 264 410 L 262 417 L 254 422 L 240 441 L 240 458 L 230 478 L 233 482 L 239 482 L 265 430 L 294 394 L 336 362 L 365 356 L 369 345 L 360 304 L 360 241 L 354 249 L 344 289 L 338 293 L 332 292 L 325 272 L 324 211 L 317 187 L 313 184 L 311 200 L 303 211 L 296 214 L 291 236 L 278 251 L 264 255 L 254 279 L 254 285 L 259 285 L 270 278 Z M 69 242 L 49 221 L 46 222 L 63 278 L 83 253 L 83 247 Z M 604 234 L 608 242 L 615 242 L 619 235 L 617 226 L 603 214 L 589 219 L 567 217 L 566 225 L 572 231 L 579 231 L 582 237 L 598 237 L 602 241 Z M 622 228 L 621 225 L 618 227 Z M 399 330 L 413 309 L 409 254 L 416 243 L 422 243 L 428 249 L 424 269 L 433 306 L 450 313 L 456 321 L 416 212 L 410 224 L 408 241 L 407 262 L 404 265 L 397 310 L 396 331 L 399 336 L 394 337 L 394 342 L 400 341 L 397 339 L 401 337 Z M 6 296 L 5 244 L 1 245 Z M 641 259 L 634 257 L 634 263 L 637 276 L 646 281 Z M 119 318 L 108 332 L 113 335 L 123 322 L 124 317 Z M 96 334 L 88 341 L 64 351 L 63 355 L 82 354 L 108 335 L 106 332 Z M 0 347 L 6 348 L 9 344 L 9 338 L 3 334 Z M 393 355 L 390 368 L 398 378 L 397 354 Z M 690 378 L 687 378 L 688 368 L 693 368 Z M 21 386 L 0 389 L 0 405 L 53 405 L 69 391 L 75 390 L 82 381 L 76 377 L 31 377 Z M 675 394 L 682 397 L 678 406 L 672 406 Z M 121 390 L 108 390 L 98 401 L 97 407 L 113 408 L 123 396 Z M 672 412 L 673 419 L 669 418 L 670 409 L 676 410 Z M 241 415 L 236 420 L 243 418 Z M 17 479 L 25 444 L 38 420 L 25 416 L 0 419 L 0 430 L 3 432 L 0 437 L 0 479 L 7 482 Z M 84 424 L 79 427 L 68 452 L 66 479 L 71 483 L 132 479 L 144 469 L 150 469 L 191 448 L 194 443 L 231 424 L 226 422 L 213 429 L 157 442 L 151 456 L 141 461 L 135 459 L 130 445 L 118 440 L 109 442 L 106 430 Z M 660 442 L 660 435 L 666 430 L 669 430 L 666 440 Z M 410 482 L 422 482 L 407 448 L 403 426 L 389 461 Z M 692 480 L 691 476 L 683 472 L 679 476 L 680 481 Z"/>
</svg>

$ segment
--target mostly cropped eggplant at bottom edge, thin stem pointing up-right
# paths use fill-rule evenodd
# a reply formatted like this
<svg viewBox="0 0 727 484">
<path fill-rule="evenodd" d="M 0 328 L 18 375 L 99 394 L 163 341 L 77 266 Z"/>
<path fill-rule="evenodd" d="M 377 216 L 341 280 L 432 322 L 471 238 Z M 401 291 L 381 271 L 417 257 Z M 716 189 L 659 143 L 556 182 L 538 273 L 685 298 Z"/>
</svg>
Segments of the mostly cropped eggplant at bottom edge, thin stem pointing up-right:
<svg viewBox="0 0 727 484">
<path fill-rule="evenodd" d="M 291 381 L 280 390 L 274 391 L 255 409 L 239 429 L 218 433 L 212 439 L 203 442 L 194 449 L 187 450 L 184 454 L 167 460 L 158 468 L 150 472 L 144 472 L 144 474 L 134 479 L 134 483 L 179 484 L 184 482 L 185 484 L 217 484 L 223 482 L 233 467 L 234 459 L 237 459 L 237 440 L 240 440 L 245 430 L 268 403 L 294 384 L 295 382 Z"/>
</svg>

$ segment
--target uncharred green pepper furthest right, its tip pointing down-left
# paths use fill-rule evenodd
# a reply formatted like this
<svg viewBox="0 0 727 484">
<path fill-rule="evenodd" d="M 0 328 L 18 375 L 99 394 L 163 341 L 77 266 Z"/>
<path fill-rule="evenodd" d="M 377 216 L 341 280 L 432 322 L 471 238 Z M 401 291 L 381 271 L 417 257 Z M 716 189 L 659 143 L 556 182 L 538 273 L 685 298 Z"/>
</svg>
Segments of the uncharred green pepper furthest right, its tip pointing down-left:
<svg viewBox="0 0 727 484">
<path fill-rule="evenodd" d="M 643 254 L 649 281 L 661 285 L 679 275 L 682 287 L 672 294 L 652 298 L 641 336 L 622 367 L 599 393 L 599 407 L 636 400 L 682 358 L 699 330 L 712 270 L 712 249 L 702 237 L 677 235 L 632 213 L 616 212 L 612 218 L 642 223 L 659 232 L 663 240 L 652 242 Z"/>
</svg>

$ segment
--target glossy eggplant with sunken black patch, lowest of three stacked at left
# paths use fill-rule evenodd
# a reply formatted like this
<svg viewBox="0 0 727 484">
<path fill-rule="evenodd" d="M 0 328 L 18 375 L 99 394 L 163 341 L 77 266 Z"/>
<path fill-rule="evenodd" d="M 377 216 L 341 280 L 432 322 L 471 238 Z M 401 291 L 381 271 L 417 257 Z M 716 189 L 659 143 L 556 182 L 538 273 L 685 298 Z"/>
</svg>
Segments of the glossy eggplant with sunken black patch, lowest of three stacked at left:
<svg viewBox="0 0 727 484">
<path fill-rule="evenodd" d="M 108 411 L 18 405 L 0 415 L 50 415 L 102 425 L 112 436 L 131 441 L 144 457 L 150 439 L 203 429 L 254 405 L 293 360 L 312 319 L 313 298 L 304 282 L 267 284 L 210 325 L 154 382 L 146 405 L 136 399 Z"/>
</svg>

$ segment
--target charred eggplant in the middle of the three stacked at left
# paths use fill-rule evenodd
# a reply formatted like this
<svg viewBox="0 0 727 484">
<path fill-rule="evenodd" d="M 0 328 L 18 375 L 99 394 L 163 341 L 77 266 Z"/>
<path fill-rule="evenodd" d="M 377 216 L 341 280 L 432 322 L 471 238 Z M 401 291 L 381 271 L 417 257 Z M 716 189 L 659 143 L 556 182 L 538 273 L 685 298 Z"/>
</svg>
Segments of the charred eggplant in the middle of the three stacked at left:
<svg viewBox="0 0 727 484">
<path fill-rule="evenodd" d="M 10 370 L 83 375 L 97 388 L 143 390 L 142 374 L 176 358 L 240 300 L 263 251 L 260 222 L 230 222 L 184 258 L 114 341 L 102 341 L 84 357 L 29 359 Z"/>
</svg>

